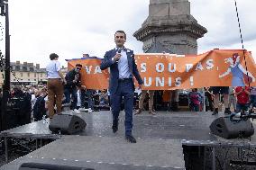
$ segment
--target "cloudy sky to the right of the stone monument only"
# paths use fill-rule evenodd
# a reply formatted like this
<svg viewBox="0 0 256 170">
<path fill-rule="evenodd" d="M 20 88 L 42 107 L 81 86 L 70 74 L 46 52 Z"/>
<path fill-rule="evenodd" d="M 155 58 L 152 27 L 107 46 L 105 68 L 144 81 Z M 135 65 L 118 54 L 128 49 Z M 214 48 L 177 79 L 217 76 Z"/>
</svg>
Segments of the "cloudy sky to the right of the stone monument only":
<svg viewBox="0 0 256 170">
<path fill-rule="evenodd" d="M 253 51 L 256 52 L 256 32 L 253 31 L 256 22 L 251 21 L 251 16 L 255 15 L 256 2 L 237 0 L 237 6 L 244 48 L 251 50 L 253 55 Z M 191 1 L 191 13 L 208 30 L 198 40 L 199 52 L 214 48 L 242 49 L 234 1 Z"/>
</svg>

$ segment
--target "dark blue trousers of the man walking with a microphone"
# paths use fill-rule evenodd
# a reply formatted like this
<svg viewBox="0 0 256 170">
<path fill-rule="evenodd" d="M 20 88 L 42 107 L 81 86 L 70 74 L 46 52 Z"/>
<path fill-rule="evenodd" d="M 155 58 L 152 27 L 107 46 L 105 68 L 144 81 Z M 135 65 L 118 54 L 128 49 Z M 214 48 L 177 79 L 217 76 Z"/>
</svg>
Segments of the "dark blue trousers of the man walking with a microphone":
<svg viewBox="0 0 256 170">
<path fill-rule="evenodd" d="M 113 113 L 113 121 L 118 121 L 119 112 L 121 110 L 122 100 L 125 112 L 125 135 L 132 135 L 133 130 L 133 79 L 124 79 L 118 81 L 118 87 L 114 94 L 111 94 L 111 107 Z"/>
</svg>

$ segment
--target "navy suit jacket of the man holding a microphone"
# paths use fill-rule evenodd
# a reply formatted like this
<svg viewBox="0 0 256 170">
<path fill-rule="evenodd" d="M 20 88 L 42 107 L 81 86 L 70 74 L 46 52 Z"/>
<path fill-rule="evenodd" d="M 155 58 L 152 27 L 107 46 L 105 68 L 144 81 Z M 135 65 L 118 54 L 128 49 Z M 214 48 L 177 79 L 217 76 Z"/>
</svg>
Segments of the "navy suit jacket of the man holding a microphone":
<svg viewBox="0 0 256 170">
<path fill-rule="evenodd" d="M 124 49 L 126 51 L 128 65 L 132 76 L 135 76 L 139 85 L 143 84 L 142 77 L 138 71 L 137 65 L 135 64 L 133 50 L 131 49 Z M 112 60 L 116 54 L 115 49 L 111 49 L 105 52 L 104 59 L 101 62 L 100 68 L 102 70 L 110 67 L 110 76 L 109 76 L 109 92 L 110 94 L 114 94 L 117 86 L 118 86 L 118 78 L 119 78 L 119 71 L 118 71 L 118 64 Z M 134 81 L 134 80 L 133 80 Z M 134 90 L 134 86 L 133 86 Z"/>
</svg>

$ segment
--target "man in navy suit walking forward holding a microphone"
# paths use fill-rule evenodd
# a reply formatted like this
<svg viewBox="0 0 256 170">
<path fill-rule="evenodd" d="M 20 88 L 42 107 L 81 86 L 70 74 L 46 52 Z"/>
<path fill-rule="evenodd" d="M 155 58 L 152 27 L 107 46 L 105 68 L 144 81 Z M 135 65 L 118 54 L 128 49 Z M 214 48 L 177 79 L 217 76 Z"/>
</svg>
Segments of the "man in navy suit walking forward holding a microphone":
<svg viewBox="0 0 256 170">
<path fill-rule="evenodd" d="M 136 139 L 132 135 L 133 96 L 135 89 L 133 76 L 137 79 L 140 88 L 142 87 L 143 81 L 134 61 L 133 50 L 126 49 L 123 46 L 125 41 L 126 34 L 124 31 L 116 31 L 114 33 L 116 47 L 105 52 L 100 68 L 104 70 L 110 67 L 109 93 L 113 113 L 113 132 L 115 133 L 118 130 L 118 116 L 123 100 L 125 139 L 131 143 L 136 143 Z"/>
</svg>

